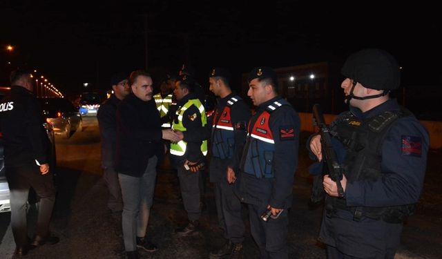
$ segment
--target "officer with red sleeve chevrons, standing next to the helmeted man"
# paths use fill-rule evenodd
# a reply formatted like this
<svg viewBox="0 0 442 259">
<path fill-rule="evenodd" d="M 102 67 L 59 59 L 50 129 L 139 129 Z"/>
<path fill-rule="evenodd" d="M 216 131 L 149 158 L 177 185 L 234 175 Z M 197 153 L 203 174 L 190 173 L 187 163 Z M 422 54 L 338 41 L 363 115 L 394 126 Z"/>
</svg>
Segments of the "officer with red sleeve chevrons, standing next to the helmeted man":
<svg viewBox="0 0 442 259">
<path fill-rule="evenodd" d="M 257 107 L 247 126 L 236 189 L 241 202 L 249 204 L 251 235 L 261 258 L 289 258 L 287 209 L 298 165 L 300 119 L 278 96 L 276 73 L 271 68 L 253 68 L 248 81 L 247 95 Z M 274 218 L 262 220 L 267 211 Z"/>
</svg>

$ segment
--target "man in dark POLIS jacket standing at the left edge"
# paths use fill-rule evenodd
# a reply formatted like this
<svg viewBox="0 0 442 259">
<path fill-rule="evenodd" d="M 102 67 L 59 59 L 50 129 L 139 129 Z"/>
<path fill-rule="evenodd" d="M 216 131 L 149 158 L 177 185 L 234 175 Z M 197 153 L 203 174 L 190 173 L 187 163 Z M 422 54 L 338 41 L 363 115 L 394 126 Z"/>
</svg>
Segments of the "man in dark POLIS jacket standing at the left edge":
<svg viewBox="0 0 442 259">
<path fill-rule="evenodd" d="M 15 254 L 59 239 L 50 236 L 49 222 L 55 202 L 52 169 L 49 168 L 50 144 L 43 126 L 41 107 L 32 94 L 33 80 L 26 70 L 10 75 L 11 92 L 0 102 L 0 128 L 3 133 L 6 179 L 10 189 L 11 227 Z M 39 196 L 35 236 L 28 243 L 26 202 L 30 187 Z"/>
</svg>

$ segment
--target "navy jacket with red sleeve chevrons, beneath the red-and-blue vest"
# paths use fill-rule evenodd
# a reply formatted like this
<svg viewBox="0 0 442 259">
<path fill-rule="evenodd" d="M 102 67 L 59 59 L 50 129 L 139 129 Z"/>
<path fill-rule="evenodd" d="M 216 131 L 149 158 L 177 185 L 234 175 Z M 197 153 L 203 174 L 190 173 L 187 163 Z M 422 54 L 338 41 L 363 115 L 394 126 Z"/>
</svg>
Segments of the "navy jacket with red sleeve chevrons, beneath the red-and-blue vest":
<svg viewBox="0 0 442 259">
<path fill-rule="evenodd" d="M 281 97 L 275 97 L 257 107 L 256 114 L 250 119 L 248 134 L 251 132 L 251 126 L 256 125 L 256 120 L 266 111 L 267 106 L 279 99 Z M 241 173 L 236 184 L 236 192 L 241 202 L 265 207 L 269 204 L 276 209 L 287 209 L 291 207 L 294 175 L 298 166 L 300 133 L 298 113 L 290 105 L 277 108 L 270 115 L 269 128 L 274 140 L 271 162 L 273 178 L 256 178 L 256 172 L 244 173 L 249 148 L 256 148 L 250 144 L 251 137 L 248 136 L 240 162 Z"/>
</svg>

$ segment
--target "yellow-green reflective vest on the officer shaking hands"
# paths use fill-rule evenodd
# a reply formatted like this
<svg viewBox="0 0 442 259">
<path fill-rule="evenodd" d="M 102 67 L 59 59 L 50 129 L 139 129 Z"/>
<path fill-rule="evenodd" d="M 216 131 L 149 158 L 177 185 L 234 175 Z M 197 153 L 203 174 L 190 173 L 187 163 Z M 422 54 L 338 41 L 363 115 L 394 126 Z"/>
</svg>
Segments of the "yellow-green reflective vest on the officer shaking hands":
<svg viewBox="0 0 442 259">
<path fill-rule="evenodd" d="M 194 105 L 198 108 L 198 111 L 200 111 L 201 114 L 201 122 L 202 126 L 204 127 L 207 124 L 207 117 L 206 117 L 206 111 L 204 110 L 204 106 L 201 104 L 199 99 L 190 99 L 186 102 L 182 107 L 178 108 L 176 111 L 176 115 L 178 116 L 178 119 L 173 121 L 172 129 L 177 131 L 187 131 L 186 128 L 184 128 L 182 124 L 182 117 L 184 115 L 184 112 Z M 176 122 L 177 121 L 177 122 Z M 178 143 L 171 143 L 171 154 L 172 155 L 179 155 L 182 156 L 184 153 L 186 153 L 186 147 L 187 142 L 184 140 L 180 140 Z M 203 140 L 201 144 L 201 152 L 203 155 L 207 155 L 207 140 Z"/>
</svg>

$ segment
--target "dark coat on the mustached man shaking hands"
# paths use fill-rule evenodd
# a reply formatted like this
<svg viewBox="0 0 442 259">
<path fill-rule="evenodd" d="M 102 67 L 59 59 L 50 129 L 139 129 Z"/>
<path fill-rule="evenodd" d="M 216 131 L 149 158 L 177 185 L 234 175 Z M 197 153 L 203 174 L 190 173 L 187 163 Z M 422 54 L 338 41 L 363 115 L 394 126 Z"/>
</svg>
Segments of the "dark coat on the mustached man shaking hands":
<svg viewBox="0 0 442 259">
<path fill-rule="evenodd" d="M 143 102 L 131 93 L 117 106 L 117 172 L 141 177 L 148 159 L 156 155 L 160 160 L 163 153 L 160 113 L 155 101 Z"/>
</svg>

